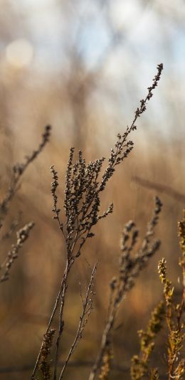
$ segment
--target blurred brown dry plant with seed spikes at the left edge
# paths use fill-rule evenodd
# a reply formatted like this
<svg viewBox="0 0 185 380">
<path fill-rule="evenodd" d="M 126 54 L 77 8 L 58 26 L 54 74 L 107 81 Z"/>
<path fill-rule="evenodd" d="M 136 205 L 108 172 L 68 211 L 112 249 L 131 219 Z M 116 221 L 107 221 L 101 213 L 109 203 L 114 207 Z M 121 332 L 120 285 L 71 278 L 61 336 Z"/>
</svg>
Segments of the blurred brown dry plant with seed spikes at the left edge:
<svg viewBox="0 0 185 380">
<path fill-rule="evenodd" d="M 4 199 L 0 203 L 0 230 L 3 226 L 4 219 L 6 218 L 7 213 L 9 212 L 9 206 L 14 198 L 16 191 L 18 190 L 18 186 L 20 184 L 21 176 L 23 175 L 24 171 L 28 168 L 28 165 L 31 164 L 31 162 L 38 157 L 38 154 L 40 154 L 43 150 L 43 148 L 46 146 L 48 139 L 51 134 L 51 126 L 47 125 L 45 127 L 45 130 L 42 135 L 42 142 L 39 144 L 38 149 L 34 150 L 30 156 L 26 156 L 26 161 L 22 164 L 16 164 L 12 168 L 12 174 L 11 174 L 11 180 L 9 189 L 4 196 Z M 15 220 L 11 223 L 11 226 L 9 228 L 9 231 L 4 233 L 3 236 L 1 236 L 0 242 L 4 241 L 7 238 L 10 238 L 11 235 L 16 230 L 16 227 L 18 226 L 19 218 L 15 218 Z M 4 258 L 3 262 L 0 265 L 0 283 L 6 281 L 9 279 L 9 273 L 11 270 L 11 266 L 14 263 L 14 260 L 18 258 L 18 253 L 20 248 L 23 246 L 23 243 L 28 239 L 29 233 L 31 229 L 33 228 L 34 223 L 26 223 L 23 228 L 20 228 L 16 233 L 16 243 L 14 243 L 11 246 L 11 250 L 6 255 L 6 258 Z"/>
</svg>

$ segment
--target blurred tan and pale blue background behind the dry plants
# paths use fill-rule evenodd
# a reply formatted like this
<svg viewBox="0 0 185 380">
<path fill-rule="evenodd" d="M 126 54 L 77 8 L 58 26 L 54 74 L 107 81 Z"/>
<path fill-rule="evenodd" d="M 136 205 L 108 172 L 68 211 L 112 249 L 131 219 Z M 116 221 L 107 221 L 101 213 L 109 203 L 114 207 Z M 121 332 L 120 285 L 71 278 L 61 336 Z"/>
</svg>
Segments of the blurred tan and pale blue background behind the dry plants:
<svg viewBox="0 0 185 380">
<path fill-rule="evenodd" d="M 60 359 L 78 326 L 79 283 L 85 291 L 90 277 L 87 260 L 91 265 L 99 260 L 95 307 L 72 360 L 78 365 L 65 374 L 65 379 L 88 379 L 90 368 L 84 362 L 93 362 L 100 344 L 122 227 L 133 219 L 142 239 L 153 198 L 160 196 L 164 208 L 157 238 L 162 247 L 124 300 L 114 335 L 116 369 L 110 379 L 129 379 L 130 359 L 139 347 L 137 329 L 162 297 L 159 258 L 166 258 L 177 293 L 181 288 L 177 221 L 185 196 L 184 62 L 184 0 L 0 1 L 0 199 L 12 166 L 36 149 L 46 124 L 53 127 L 51 142 L 22 178 L 1 231 L 9 230 L 20 211 L 20 227 L 36 222 L 9 281 L 1 284 L 0 379 L 30 378 L 63 273 L 63 239 L 52 220 L 49 167 L 54 164 L 58 170 L 62 205 L 69 148 L 83 150 L 90 161 L 109 157 L 117 132 L 130 125 L 157 64 L 164 63 L 159 87 L 132 134 L 134 150 L 102 197 L 102 211 L 113 201 L 114 213 L 95 228 L 95 238 L 71 273 L 65 308 Z M 1 260 L 15 239 L 14 234 L 1 243 Z M 165 347 L 163 340 L 158 343 L 155 366 L 163 373 L 163 354 L 160 359 L 157 354 Z"/>
</svg>

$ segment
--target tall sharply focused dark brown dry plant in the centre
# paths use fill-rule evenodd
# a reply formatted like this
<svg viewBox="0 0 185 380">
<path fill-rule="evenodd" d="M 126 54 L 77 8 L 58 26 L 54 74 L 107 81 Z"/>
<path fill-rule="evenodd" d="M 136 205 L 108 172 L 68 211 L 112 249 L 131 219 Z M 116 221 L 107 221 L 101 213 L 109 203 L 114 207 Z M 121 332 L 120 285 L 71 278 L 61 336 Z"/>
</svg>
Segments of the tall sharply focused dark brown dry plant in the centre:
<svg viewBox="0 0 185 380">
<path fill-rule="evenodd" d="M 73 163 L 73 157 L 75 154 L 75 149 L 70 148 L 70 155 L 68 159 L 68 167 L 66 171 L 65 179 L 65 200 L 64 200 L 64 211 L 65 216 L 61 212 L 58 206 L 58 196 L 56 193 L 58 187 L 58 172 L 52 166 L 51 174 L 53 177 L 53 182 L 51 184 L 51 193 L 53 196 L 53 218 L 56 219 L 60 232 L 63 235 L 65 241 L 65 270 L 61 278 L 60 289 L 56 297 L 56 302 L 51 313 L 50 320 L 48 322 L 48 327 L 44 337 L 47 336 L 48 332 L 51 331 L 54 317 L 56 317 L 57 311 L 58 314 L 58 332 L 56 332 L 56 349 L 53 357 L 53 380 L 63 379 L 63 370 L 58 374 L 58 359 L 60 357 L 60 341 L 63 336 L 64 329 L 64 307 L 66 294 L 68 290 L 68 278 L 70 271 L 73 268 L 75 261 L 79 258 L 82 253 L 82 248 L 85 245 L 88 239 L 93 238 L 95 233 L 92 231 L 93 227 L 99 223 L 100 219 L 107 217 L 109 213 L 112 213 L 113 205 L 110 204 L 107 211 L 100 213 L 100 196 L 102 191 L 105 190 L 108 181 L 114 174 L 115 168 L 120 164 L 132 151 L 133 142 L 128 140 L 129 134 L 136 130 L 137 127 L 135 122 L 138 117 L 146 110 L 147 102 L 151 99 L 153 93 L 152 91 L 157 87 L 159 79 L 161 77 L 163 65 L 162 63 L 157 65 L 157 75 L 154 76 L 152 85 L 148 88 L 147 96 L 140 100 L 140 106 L 137 107 L 137 110 L 134 113 L 134 120 L 130 127 L 127 127 L 127 130 L 124 134 L 117 134 L 117 141 L 115 142 L 115 147 L 111 149 L 110 158 L 108 159 L 107 168 L 102 174 L 102 164 L 105 161 L 105 158 L 96 159 L 94 162 L 86 163 L 83 158 L 82 152 L 78 152 L 78 160 Z M 102 174 L 102 175 L 101 175 Z M 101 177 L 100 177 L 101 176 Z M 160 203 L 159 203 L 160 204 Z M 158 204 L 158 206 L 159 206 Z M 148 237 L 147 237 L 148 238 Z M 159 244 L 156 247 L 151 248 L 151 252 L 148 253 L 152 255 L 152 250 L 156 250 Z M 147 253 L 147 247 L 144 247 L 145 253 Z M 145 251 L 146 249 L 146 251 Z M 142 255 L 142 253 L 141 253 Z M 145 261 L 147 259 L 143 257 Z M 143 266 L 144 263 L 138 263 L 138 265 Z M 94 278 L 94 273 L 92 273 Z M 92 279 L 92 276 L 91 276 Z M 90 280 L 91 282 L 91 280 Z M 90 285 L 89 285 L 90 286 Z M 93 306 L 93 302 L 88 302 L 88 315 Z M 87 314 L 85 310 L 85 303 L 83 303 L 83 313 Z M 81 321 L 82 316 L 80 317 Z M 70 358 L 75 347 L 77 346 L 80 337 L 82 335 L 81 327 L 78 329 L 77 337 L 75 338 L 75 344 L 68 354 Z M 36 371 L 41 363 L 42 348 L 45 344 L 45 338 L 41 344 L 41 349 L 38 353 L 36 359 L 36 365 L 33 369 L 32 379 L 36 379 Z"/>
</svg>

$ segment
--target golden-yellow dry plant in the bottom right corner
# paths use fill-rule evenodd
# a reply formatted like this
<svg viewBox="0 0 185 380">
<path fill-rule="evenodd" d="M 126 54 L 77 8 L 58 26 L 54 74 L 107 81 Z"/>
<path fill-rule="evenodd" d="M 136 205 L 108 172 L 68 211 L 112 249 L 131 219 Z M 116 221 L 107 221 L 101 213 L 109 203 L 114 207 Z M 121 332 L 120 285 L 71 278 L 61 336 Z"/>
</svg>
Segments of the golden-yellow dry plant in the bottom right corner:
<svg viewBox="0 0 185 380">
<path fill-rule="evenodd" d="M 147 330 L 138 332 L 140 354 L 132 357 L 131 378 L 139 380 L 144 375 L 149 379 L 160 379 L 159 368 L 149 369 L 149 359 L 154 350 L 154 338 L 163 325 L 166 327 L 166 379 L 182 380 L 185 374 L 184 340 L 185 340 L 185 210 L 183 220 L 179 222 L 179 238 L 182 257 L 179 265 L 182 269 L 181 302 L 174 300 L 174 287 L 166 275 L 166 260 L 159 260 L 159 277 L 163 285 L 164 300 L 152 312 Z M 159 367 L 159 364 L 158 364 Z"/>
</svg>

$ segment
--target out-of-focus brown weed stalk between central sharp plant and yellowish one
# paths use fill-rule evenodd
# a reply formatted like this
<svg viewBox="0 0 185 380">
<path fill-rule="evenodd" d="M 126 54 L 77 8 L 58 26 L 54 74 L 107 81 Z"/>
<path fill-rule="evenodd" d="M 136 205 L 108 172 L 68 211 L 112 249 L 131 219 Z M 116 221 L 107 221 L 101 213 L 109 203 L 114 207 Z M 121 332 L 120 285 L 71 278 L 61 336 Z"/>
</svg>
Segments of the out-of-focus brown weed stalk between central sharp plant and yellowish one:
<svg viewBox="0 0 185 380">
<path fill-rule="evenodd" d="M 135 278 L 137 278 L 141 270 L 147 265 L 149 258 L 151 258 L 159 249 L 160 241 L 153 241 L 152 239 L 154 236 L 154 228 L 157 225 L 159 213 L 162 209 L 162 203 L 158 197 L 155 199 L 155 205 L 154 215 L 147 226 L 147 233 L 144 236 L 142 246 L 134 255 L 133 250 L 138 237 L 138 230 L 135 228 L 134 222 L 129 221 L 122 232 L 120 242 L 121 255 L 119 275 L 118 277 L 113 278 L 110 283 L 110 301 L 107 322 L 102 334 L 100 352 L 98 353 L 93 369 L 90 372 L 89 380 L 95 379 L 98 371 L 100 371 L 100 367 L 102 366 L 102 362 L 104 361 L 107 352 L 110 350 L 117 311 L 119 310 L 122 300 L 127 292 L 129 292 L 134 286 Z"/>
</svg>

